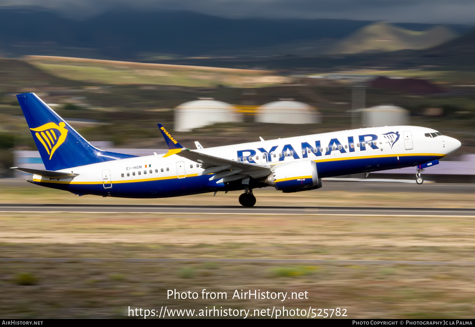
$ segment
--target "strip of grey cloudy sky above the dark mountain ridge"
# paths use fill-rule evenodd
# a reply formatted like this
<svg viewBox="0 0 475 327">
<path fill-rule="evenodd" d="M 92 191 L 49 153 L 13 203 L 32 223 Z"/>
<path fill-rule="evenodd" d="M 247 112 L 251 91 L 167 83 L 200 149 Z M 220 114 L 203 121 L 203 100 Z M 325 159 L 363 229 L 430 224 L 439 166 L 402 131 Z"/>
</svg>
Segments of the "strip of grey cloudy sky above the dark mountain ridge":
<svg viewBox="0 0 475 327">
<path fill-rule="evenodd" d="M 85 19 L 111 9 L 190 10 L 227 18 L 354 19 L 475 25 L 475 0 L 0 0 Z"/>
</svg>

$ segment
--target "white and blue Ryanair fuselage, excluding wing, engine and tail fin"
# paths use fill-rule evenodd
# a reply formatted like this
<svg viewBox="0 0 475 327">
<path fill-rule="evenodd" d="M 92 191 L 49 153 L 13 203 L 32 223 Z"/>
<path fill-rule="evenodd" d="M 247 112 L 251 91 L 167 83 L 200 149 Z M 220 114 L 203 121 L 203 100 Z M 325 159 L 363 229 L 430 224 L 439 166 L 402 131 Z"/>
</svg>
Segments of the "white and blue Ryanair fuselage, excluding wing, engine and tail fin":
<svg viewBox="0 0 475 327">
<path fill-rule="evenodd" d="M 441 159 L 460 147 L 456 139 L 418 126 L 388 126 L 337 131 L 196 149 L 215 157 L 276 168 L 291 162 L 315 161 L 318 178 L 415 167 Z M 429 136 L 427 136 L 429 135 Z M 434 137 L 435 136 L 435 137 Z M 70 191 L 133 198 L 266 187 L 266 178 L 219 183 L 214 173 L 201 175 L 202 163 L 177 154 L 152 155 L 62 169 L 79 174 L 57 180 L 34 175 L 35 184 Z M 416 171 L 415 171 L 416 172 Z M 295 178 L 298 178 L 298 173 Z"/>
</svg>

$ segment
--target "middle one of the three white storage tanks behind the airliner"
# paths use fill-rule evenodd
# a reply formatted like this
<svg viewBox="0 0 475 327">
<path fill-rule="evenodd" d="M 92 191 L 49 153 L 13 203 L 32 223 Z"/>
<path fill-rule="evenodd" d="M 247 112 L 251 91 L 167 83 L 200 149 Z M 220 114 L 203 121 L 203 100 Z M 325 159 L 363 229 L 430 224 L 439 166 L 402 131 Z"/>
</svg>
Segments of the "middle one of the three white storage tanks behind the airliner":
<svg viewBox="0 0 475 327">
<path fill-rule="evenodd" d="M 257 122 L 278 124 L 319 124 L 320 113 L 309 104 L 294 99 L 279 99 L 257 108 Z"/>
</svg>

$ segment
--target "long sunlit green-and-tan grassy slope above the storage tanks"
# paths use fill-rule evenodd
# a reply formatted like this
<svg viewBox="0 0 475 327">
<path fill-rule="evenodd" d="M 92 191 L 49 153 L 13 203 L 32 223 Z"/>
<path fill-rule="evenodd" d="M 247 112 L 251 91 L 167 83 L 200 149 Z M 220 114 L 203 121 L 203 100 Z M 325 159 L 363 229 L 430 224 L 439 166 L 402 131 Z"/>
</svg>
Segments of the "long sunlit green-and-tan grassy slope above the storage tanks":
<svg viewBox="0 0 475 327">
<path fill-rule="evenodd" d="M 263 87 L 287 81 L 287 78 L 275 76 L 275 73 L 271 71 L 250 69 L 145 64 L 51 56 L 25 56 L 25 60 L 53 76 L 92 84 Z"/>
</svg>

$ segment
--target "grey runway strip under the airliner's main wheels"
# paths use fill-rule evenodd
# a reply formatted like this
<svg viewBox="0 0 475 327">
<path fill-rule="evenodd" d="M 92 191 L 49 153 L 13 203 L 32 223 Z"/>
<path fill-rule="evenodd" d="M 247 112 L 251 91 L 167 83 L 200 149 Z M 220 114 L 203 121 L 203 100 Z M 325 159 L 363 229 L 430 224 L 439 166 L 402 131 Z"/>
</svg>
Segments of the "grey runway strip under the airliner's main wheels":
<svg viewBox="0 0 475 327">
<path fill-rule="evenodd" d="M 400 208 L 332 206 L 164 206 L 0 204 L 4 213 L 201 214 L 201 215 L 335 215 L 335 216 L 447 216 L 475 217 L 475 208 Z"/>
</svg>

